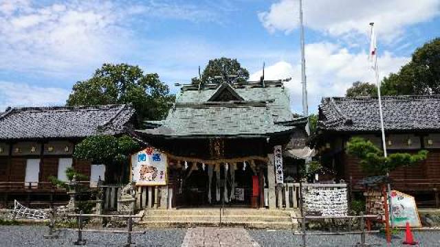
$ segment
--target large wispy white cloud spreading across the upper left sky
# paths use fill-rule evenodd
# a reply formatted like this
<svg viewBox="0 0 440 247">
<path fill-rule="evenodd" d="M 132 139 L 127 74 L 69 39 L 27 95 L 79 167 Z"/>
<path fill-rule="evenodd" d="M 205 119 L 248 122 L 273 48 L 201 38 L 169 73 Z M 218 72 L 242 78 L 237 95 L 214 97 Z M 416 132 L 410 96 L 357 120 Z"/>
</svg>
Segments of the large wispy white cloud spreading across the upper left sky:
<svg viewBox="0 0 440 247">
<path fill-rule="evenodd" d="M 0 69 L 59 78 L 78 78 L 103 62 L 124 62 L 134 50 L 144 49 L 139 47 L 144 37 L 131 27 L 134 22 L 216 18 L 209 10 L 174 1 L 0 2 Z"/>
</svg>

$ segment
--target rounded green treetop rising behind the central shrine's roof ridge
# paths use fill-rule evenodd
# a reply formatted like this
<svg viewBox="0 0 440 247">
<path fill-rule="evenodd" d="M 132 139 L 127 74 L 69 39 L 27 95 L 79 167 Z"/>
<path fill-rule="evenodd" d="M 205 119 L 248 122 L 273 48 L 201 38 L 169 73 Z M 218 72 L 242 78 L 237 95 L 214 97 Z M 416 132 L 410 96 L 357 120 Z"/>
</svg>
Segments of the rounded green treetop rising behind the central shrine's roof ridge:
<svg viewBox="0 0 440 247">
<path fill-rule="evenodd" d="M 241 67 L 241 64 L 236 59 L 231 58 L 215 58 L 211 59 L 203 69 L 201 78 L 192 78 L 192 84 L 206 84 L 219 83 L 221 78 L 228 80 L 229 75 L 236 75 L 237 82 L 246 82 L 249 79 L 249 72 L 247 69 Z M 215 78 L 221 77 L 221 78 Z"/>
</svg>

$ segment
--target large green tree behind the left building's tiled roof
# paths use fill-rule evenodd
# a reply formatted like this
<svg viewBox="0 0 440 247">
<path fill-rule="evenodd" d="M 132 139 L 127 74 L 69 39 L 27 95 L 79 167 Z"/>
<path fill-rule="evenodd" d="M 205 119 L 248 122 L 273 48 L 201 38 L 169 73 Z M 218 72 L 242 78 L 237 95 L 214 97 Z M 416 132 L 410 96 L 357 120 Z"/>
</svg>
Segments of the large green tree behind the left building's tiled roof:
<svg viewBox="0 0 440 247">
<path fill-rule="evenodd" d="M 74 84 L 67 105 L 131 104 L 141 123 L 165 117 L 174 99 L 156 73 L 144 74 L 129 64 L 103 64 L 89 80 Z"/>
</svg>

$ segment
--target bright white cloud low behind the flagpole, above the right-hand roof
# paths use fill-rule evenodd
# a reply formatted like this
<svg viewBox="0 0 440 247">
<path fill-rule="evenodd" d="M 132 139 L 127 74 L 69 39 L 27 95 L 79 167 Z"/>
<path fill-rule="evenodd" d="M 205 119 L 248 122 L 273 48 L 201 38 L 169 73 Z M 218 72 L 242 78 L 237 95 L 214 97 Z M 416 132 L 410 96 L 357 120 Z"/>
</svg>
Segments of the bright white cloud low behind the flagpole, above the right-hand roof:
<svg viewBox="0 0 440 247">
<path fill-rule="evenodd" d="M 314 43 L 306 45 L 306 74 L 309 112 L 314 113 L 322 97 L 343 96 L 355 81 L 375 82 L 371 64 L 366 51 L 351 54 L 347 49 L 332 43 Z M 381 78 L 388 73 L 398 71 L 410 58 L 393 56 L 385 52 L 378 58 Z M 299 59 L 298 59 L 299 60 Z M 250 76 L 258 80 L 262 71 Z M 291 95 L 292 109 L 298 113 L 302 110 L 301 65 L 288 62 L 277 62 L 265 69 L 266 80 L 278 80 L 292 77 L 285 83 Z"/>
</svg>

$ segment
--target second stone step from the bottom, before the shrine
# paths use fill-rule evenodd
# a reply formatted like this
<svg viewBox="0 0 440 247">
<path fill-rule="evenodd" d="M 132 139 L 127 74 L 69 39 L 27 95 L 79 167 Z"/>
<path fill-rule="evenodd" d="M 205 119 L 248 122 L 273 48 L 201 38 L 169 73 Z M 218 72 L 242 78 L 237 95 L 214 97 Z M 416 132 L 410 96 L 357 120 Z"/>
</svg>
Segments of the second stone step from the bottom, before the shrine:
<svg viewBox="0 0 440 247">
<path fill-rule="evenodd" d="M 229 222 L 292 222 L 289 216 L 273 215 L 223 215 L 222 221 Z M 145 215 L 144 222 L 160 222 L 164 220 L 177 220 L 179 222 L 219 222 L 220 215 Z"/>
</svg>

